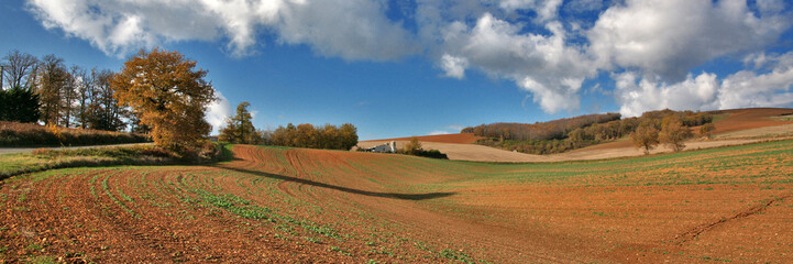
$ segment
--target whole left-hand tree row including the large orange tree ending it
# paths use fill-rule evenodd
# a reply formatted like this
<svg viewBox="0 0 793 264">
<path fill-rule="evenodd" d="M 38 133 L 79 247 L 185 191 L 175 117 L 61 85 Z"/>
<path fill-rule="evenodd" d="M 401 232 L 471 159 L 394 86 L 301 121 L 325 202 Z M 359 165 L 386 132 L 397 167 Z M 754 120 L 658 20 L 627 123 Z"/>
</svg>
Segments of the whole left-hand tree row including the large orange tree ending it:
<svg viewBox="0 0 793 264">
<path fill-rule="evenodd" d="M 121 131 L 130 127 L 185 157 L 214 155 L 218 148 L 208 140 L 211 125 L 205 116 L 217 98 L 211 81 L 205 80 L 208 72 L 178 52 L 141 50 L 113 73 L 67 67 L 53 54 L 37 58 L 12 51 L 2 57 L 2 105 L 26 107 L 3 110 L 0 117 L 42 122 L 55 134 L 62 128 Z"/>
</svg>

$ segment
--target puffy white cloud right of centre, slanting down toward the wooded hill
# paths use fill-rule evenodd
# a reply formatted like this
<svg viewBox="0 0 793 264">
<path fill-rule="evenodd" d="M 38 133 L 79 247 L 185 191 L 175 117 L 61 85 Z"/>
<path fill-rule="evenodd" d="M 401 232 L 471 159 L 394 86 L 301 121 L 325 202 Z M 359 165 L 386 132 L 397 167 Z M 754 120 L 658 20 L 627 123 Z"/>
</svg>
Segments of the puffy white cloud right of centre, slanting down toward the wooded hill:
<svg viewBox="0 0 793 264">
<path fill-rule="evenodd" d="M 444 55 L 460 59 L 493 76 L 513 79 L 530 91 L 533 101 L 547 112 L 579 109 L 581 84 L 596 73 L 580 48 L 565 44 L 565 31 L 559 22 L 549 22 L 551 35 L 521 34 L 521 28 L 491 13 L 483 14 L 473 28 L 460 22 L 445 29 Z M 460 67 L 447 67 L 448 76 L 460 76 Z"/>
</svg>

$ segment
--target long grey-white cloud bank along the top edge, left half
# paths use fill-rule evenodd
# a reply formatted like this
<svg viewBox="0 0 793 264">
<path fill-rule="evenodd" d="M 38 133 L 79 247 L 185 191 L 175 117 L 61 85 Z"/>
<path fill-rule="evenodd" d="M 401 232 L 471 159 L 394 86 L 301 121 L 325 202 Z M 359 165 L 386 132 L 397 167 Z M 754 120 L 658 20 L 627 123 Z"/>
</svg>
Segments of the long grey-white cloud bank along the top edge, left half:
<svg viewBox="0 0 793 264">
<path fill-rule="evenodd" d="M 27 0 L 47 29 L 123 56 L 169 41 L 228 40 L 235 56 L 255 52 L 257 35 L 308 44 L 345 59 L 394 59 L 418 51 L 411 36 L 368 0 Z"/>
</svg>

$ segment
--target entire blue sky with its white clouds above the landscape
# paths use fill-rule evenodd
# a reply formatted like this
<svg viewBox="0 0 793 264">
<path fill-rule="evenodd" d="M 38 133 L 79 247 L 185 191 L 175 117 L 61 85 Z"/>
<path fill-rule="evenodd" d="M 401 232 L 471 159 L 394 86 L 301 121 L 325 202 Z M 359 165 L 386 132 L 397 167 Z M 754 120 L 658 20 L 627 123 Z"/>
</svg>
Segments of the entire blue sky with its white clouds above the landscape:
<svg viewBox="0 0 793 264">
<path fill-rule="evenodd" d="M 785 1 L 7 0 L 0 53 L 208 69 L 220 124 L 350 122 L 362 140 L 594 113 L 793 106 Z"/>
</svg>

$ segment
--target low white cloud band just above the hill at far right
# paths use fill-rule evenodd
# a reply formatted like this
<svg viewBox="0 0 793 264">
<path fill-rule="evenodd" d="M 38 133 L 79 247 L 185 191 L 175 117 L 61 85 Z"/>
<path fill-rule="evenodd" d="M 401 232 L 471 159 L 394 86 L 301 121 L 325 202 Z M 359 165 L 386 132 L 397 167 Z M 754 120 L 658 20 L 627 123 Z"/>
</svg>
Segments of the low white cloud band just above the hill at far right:
<svg viewBox="0 0 793 264">
<path fill-rule="evenodd" d="M 626 117 L 658 109 L 714 110 L 747 107 L 783 107 L 793 103 L 793 52 L 770 58 L 771 70 L 740 70 L 724 79 L 715 74 L 689 75 L 674 84 L 639 77 L 628 72 L 613 75 L 615 94 Z"/>
</svg>

